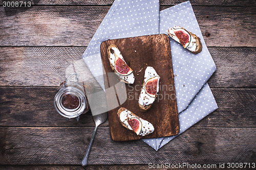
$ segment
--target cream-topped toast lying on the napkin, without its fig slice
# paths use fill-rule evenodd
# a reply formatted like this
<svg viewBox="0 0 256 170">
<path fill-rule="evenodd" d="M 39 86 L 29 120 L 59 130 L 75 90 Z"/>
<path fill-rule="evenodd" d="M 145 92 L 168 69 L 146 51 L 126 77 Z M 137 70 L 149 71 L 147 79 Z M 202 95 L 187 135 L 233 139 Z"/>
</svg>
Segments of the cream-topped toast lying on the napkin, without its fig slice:
<svg viewBox="0 0 256 170">
<path fill-rule="evenodd" d="M 175 27 L 172 27 L 172 28 L 169 28 L 167 30 L 167 34 L 168 36 L 170 36 L 171 38 L 173 38 L 175 41 L 179 42 L 180 43 L 180 40 L 178 39 L 178 37 L 175 35 L 175 33 L 173 32 L 174 30 L 177 30 L 177 29 L 183 29 L 185 30 L 185 32 L 187 32 L 188 34 L 190 34 L 190 41 L 189 41 L 189 44 L 188 46 L 184 46 L 187 50 L 189 50 L 190 52 L 194 53 L 194 54 L 198 54 L 202 51 L 202 48 L 203 48 L 203 45 L 201 43 L 201 39 L 196 36 L 195 34 L 187 31 L 186 29 L 182 28 L 182 27 L 179 27 L 179 26 L 175 26 Z M 186 34 L 187 34 L 186 33 Z M 187 34 L 187 35 L 188 35 Z M 193 39 L 193 41 L 191 40 Z M 195 48 L 195 50 L 192 50 L 191 48 Z"/>
</svg>

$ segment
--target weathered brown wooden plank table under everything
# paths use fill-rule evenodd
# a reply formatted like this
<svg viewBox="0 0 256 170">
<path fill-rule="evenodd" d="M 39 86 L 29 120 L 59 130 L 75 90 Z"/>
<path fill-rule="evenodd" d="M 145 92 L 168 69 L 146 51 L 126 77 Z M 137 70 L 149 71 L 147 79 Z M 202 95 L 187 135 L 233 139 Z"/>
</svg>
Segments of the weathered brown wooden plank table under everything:
<svg viewBox="0 0 256 170">
<path fill-rule="evenodd" d="M 161 10 L 182 1 L 161 1 Z M 82 169 L 94 129 L 56 113 L 53 98 L 66 68 L 83 67 L 86 50 L 112 0 L 0 1 L 0 168 Z M 143 141 L 114 142 L 98 128 L 88 169 L 144 169 L 148 163 L 255 163 L 256 3 L 191 1 L 217 70 L 208 81 L 219 109 L 158 152 Z M 89 70 L 84 73 L 91 78 Z M 248 166 L 247 166 L 248 167 Z"/>
</svg>

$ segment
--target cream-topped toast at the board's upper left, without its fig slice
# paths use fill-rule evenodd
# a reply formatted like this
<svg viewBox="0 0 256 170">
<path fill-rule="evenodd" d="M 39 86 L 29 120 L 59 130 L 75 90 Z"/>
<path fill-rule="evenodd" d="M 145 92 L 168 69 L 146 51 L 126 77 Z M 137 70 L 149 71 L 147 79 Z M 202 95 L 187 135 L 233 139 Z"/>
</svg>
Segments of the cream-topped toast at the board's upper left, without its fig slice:
<svg viewBox="0 0 256 170">
<path fill-rule="evenodd" d="M 126 76 L 122 76 L 120 75 L 116 69 L 115 69 L 115 65 L 113 63 L 111 63 L 111 61 L 113 62 L 113 60 L 115 61 L 115 58 L 112 58 L 111 57 L 111 54 L 114 54 L 114 50 L 112 48 L 116 48 L 118 50 L 118 47 L 115 45 L 115 44 L 111 44 L 109 47 L 108 47 L 108 58 L 109 58 L 109 61 L 110 61 L 110 66 L 112 68 L 113 71 L 115 71 L 116 75 L 118 75 L 118 77 L 120 78 L 120 81 L 123 81 L 127 84 L 133 84 L 134 83 L 134 80 L 135 80 L 135 77 L 133 75 L 133 72 L 131 72 L 131 74 L 129 75 L 126 75 Z M 119 50 L 118 50 L 119 51 Z M 120 51 L 119 51 L 120 52 Z M 120 53 L 121 55 L 121 53 Z M 123 60 L 124 61 L 124 60 Z M 115 62 L 114 62 L 115 63 Z"/>
</svg>

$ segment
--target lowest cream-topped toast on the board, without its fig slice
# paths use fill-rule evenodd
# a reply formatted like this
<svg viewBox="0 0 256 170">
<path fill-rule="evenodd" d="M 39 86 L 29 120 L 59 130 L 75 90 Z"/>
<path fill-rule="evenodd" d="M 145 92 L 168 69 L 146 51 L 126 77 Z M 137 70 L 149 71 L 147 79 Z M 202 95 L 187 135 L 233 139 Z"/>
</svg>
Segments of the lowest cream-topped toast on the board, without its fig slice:
<svg viewBox="0 0 256 170">
<path fill-rule="evenodd" d="M 120 123 L 122 124 L 122 126 L 125 127 L 126 129 L 129 129 L 132 131 L 134 131 L 134 130 L 129 125 L 129 123 L 127 123 L 127 119 L 130 119 L 130 118 L 139 119 L 142 125 L 141 125 L 141 131 L 137 135 L 145 136 L 145 135 L 153 133 L 155 130 L 154 126 L 151 123 L 149 123 L 147 120 L 137 116 L 136 114 L 134 114 L 133 112 L 131 112 L 130 110 L 128 110 L 124 107 L 121 107 L 117 111 L 117 116 L 118 116 L 118 119 L 119 119 Z"/>
</svg>

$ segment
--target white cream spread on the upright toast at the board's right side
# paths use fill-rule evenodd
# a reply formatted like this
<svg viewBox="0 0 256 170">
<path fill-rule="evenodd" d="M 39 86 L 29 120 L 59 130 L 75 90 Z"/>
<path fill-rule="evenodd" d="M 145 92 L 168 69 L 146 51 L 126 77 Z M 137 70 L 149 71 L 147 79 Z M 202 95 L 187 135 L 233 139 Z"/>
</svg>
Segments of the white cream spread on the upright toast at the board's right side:
<svg viewBox="0 0 256 170">
<path fill-rule="evenodd" d="M 148 79 L 151 79 L 156 76 L 158 77 L 158 82 L 157 82 L 157 93 L 158 93 L 160 77 L 158 76 L 156 70 L 153 67 L 150 67 L 150 66 L 146 67 L 145 75 L 144 75 L 144 82 L 146 82 Z M 155 101 L 155 99 L 156 98 L 153 98 L 152 96 L 150 96 L 146 93 L 145 84 L 144 84 L 144 86 L 142 87 L 141 92 L 140 92 L 139 104 L 142 106 L 150 105 Z"/>
</svg>

